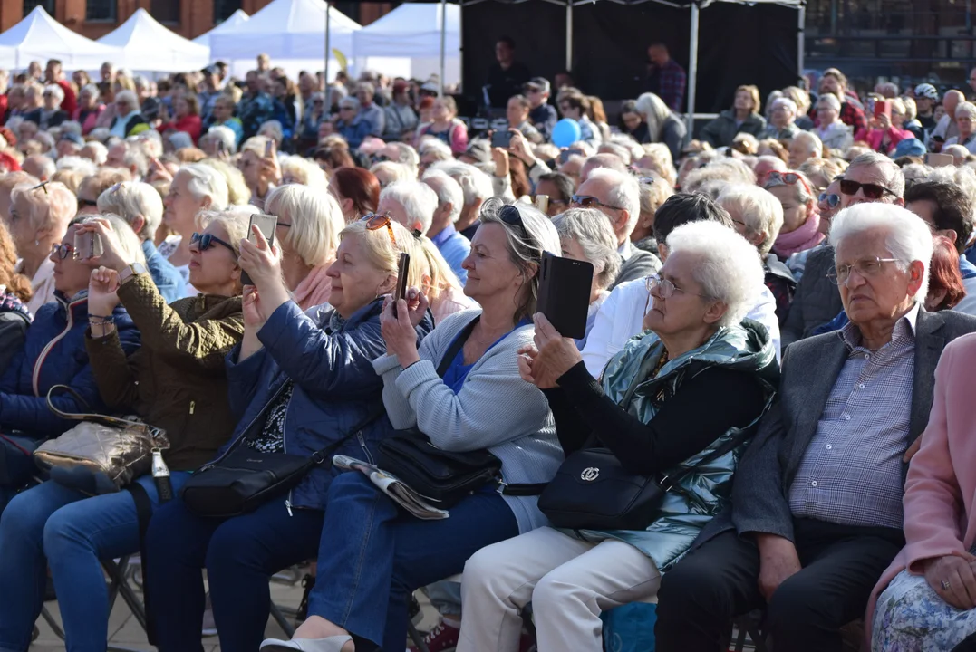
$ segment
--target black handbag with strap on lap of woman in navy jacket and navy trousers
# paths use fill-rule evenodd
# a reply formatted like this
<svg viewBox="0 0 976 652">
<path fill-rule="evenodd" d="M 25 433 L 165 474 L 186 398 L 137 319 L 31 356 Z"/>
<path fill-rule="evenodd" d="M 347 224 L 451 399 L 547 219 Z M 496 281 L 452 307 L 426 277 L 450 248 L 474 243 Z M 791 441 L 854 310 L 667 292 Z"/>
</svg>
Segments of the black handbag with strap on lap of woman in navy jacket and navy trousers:
<svg viewBox="0 0 976 652">
<path fill-rule="evenodd" d="M 263 453 L 240 438 L 223 457 L 205 464 L 183 484 L 183 503 L 199 517 L 231 518 L 255 511 L 294 488 L 313 467 L 332 464 L 332 453 L 384 413 L 383 403 L 338 441 L 310 456 Z"/>
</svg>

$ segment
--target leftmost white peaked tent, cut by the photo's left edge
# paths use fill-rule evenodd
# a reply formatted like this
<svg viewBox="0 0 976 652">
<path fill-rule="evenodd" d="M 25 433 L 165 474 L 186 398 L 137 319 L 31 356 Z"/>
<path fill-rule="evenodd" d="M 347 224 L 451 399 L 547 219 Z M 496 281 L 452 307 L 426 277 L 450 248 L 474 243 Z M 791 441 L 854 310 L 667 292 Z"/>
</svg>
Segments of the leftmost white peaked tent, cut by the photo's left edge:
<svg viewBox="0 0 976 652">
<path fill-rule="evenodd" d="M 105 61 L 119 57 L 118 48 L 71 31 L 40 6 L 0 34 L 0 65 L 9 68 L 25 68 L 34 59 L 57 58 L 66 70 L 97 70 Z"/>
</svg>

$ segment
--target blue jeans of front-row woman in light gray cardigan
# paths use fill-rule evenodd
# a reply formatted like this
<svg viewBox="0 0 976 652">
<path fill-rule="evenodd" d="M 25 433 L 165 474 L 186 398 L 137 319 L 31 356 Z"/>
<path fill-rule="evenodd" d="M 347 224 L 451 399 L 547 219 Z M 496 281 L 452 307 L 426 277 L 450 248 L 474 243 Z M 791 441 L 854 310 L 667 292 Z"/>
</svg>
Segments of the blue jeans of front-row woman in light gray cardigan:
<svg viewBox="0 0 976 652">
<path fill-rule="evenodd" d="M 384 650 L 407 637 L 407 600 L 457 575 L 468 557 L 518 535 L 508 503 L 486 488 L 451 508 L 451 518 L 421 520 L 396 506 L 361 473 L 332 480 L 308 613 Z"/>
</svg>

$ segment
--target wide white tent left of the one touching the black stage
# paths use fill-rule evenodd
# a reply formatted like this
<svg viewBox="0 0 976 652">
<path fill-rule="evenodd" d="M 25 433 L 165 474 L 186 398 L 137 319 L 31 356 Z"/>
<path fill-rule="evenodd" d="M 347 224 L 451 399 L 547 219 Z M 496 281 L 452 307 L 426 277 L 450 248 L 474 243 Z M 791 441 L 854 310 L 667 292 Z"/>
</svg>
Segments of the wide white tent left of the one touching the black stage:
<svg viewBox="0 0 976 652">
<path fill-rule="evenodd" d="M 352 32 L 362 27 L 325 0 L 274 0 L 247 22 L 211 35 L 210 56 L 230 61 L 235 74 L 242 71 L 238 61 L 246 71 L 254 67 L 259 53 L 292 76 L 302 67 L 320 70 L 325 62 L 326 11 L 330 49 L 351 58 Z"/>
</svg>

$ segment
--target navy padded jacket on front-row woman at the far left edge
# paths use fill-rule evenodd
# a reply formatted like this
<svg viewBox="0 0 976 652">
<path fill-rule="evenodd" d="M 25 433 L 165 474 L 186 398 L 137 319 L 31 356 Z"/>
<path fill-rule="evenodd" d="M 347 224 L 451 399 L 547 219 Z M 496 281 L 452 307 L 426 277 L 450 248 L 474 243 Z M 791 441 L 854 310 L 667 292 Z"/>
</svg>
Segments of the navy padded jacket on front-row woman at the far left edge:
<svg viewBox="0 0 976 652">
<path fill-rule="evenodd" d="M 132 353 L 139 348 L 139 331 L 121 305 L 112 314 L 122 348 Z M 0 378 L 0 432 L 47 440 L 76 425 L 48 408 L 48 390 L 54 385 L 68 385 L 88 402 L 83 405 L 69 395 L 56 394 L 53 401 L 61 411 L 105 410 L 88 364 L 87 329 L 87 291 L 70 302 L 58 292 L 55 301 L 41 306 L 23 348 Z"/>
</svg>

